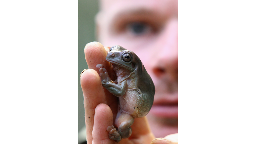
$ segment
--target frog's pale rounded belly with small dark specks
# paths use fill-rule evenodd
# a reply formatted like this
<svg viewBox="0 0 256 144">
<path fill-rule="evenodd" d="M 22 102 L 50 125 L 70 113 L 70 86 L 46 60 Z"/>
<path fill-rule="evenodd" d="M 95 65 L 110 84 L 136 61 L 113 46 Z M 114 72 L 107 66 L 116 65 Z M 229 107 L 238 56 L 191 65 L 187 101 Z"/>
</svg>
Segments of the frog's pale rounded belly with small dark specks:
<svg viewBox="0 0 256 144">
<path fill-rule="evenodd" d="M 149 112 L 147 101 L 141 99 L 141 94 L 137 90 L 127 90 L 125 95 L 119 97 L 119 107 L 121 112 L 130 114 L 135 118 L 144 117 Z"/>
</svg>

